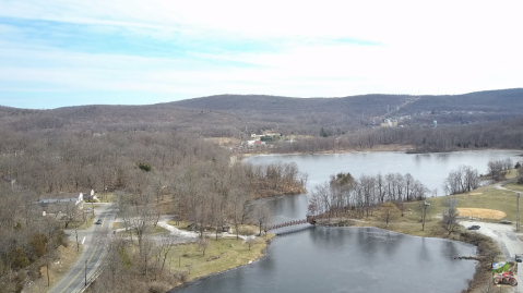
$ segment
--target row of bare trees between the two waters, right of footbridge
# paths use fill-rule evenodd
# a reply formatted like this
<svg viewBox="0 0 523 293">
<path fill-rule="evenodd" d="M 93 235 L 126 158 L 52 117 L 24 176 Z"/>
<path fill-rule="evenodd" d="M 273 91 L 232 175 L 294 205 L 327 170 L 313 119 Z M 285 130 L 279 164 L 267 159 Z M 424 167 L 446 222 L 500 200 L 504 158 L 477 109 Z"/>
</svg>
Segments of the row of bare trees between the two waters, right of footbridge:
<svg viewBox="0 0 523 293">
<path fill-rule="evenodd" d="M 309 197 L 308 216 L 326 215 L 330 219 L 354 211 L 354 216 L 362 218 L 385 202 L 396 203 L 403 212 L 403 202 L 423 199 L 428 192 L 409 173 L 361 175 L 359 179 L 350 173 L 338 173 L 331 175 L 329 182 L 314 186 Z"/>
</svg>

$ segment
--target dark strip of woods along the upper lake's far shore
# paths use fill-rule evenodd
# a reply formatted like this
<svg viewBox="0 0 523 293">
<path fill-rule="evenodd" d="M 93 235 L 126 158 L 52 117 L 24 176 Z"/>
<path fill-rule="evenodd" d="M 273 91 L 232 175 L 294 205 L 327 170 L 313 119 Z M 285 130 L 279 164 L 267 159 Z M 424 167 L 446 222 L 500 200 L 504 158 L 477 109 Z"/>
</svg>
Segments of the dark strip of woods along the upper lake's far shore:
<svg viewBox="0 0 523 293">
<path fill-rule="evenodd" d="M 523 148 L 523 119 L 447 127 L 360 130 L 344 135 L 277 142 L 276 152 L 317 152 L 372 149 L 381 145 L 411 145 L 411 152 L 438 152 L 480 148 Z"/>
</svg>

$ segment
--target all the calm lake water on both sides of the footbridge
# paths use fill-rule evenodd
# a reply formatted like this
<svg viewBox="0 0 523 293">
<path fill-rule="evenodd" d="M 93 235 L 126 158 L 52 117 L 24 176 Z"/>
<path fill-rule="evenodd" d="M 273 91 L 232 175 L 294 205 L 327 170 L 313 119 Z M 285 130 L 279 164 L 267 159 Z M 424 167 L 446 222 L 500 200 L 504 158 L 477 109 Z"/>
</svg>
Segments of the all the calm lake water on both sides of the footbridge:
<svg viewBox="0 0 523 293">
<path fill-rule="evenodd" d="M 489 160 L 510 157 L 512 150 L 405 155 L 353 152 L 342 155 L 255 156 L 251 163 L 277 160 L 298 164 L 309 174 L 309 186 L 337 172 L 360 174 L 411 173 L 430 190 L 439 188 L 452 169 L 472 166 L 484 173 Z M 307 195 L 269 199 L 273 222 L 304 219 Z M 466 288 L 475 261 L 453 256 L 475 255 L 475 247 L 438 239 L 423 239 L 379 229 L 316 228 L 276 237 L 268 256 L 254 264 L 204 278 L 173 292 L 452 292 Z"/>
</svg>

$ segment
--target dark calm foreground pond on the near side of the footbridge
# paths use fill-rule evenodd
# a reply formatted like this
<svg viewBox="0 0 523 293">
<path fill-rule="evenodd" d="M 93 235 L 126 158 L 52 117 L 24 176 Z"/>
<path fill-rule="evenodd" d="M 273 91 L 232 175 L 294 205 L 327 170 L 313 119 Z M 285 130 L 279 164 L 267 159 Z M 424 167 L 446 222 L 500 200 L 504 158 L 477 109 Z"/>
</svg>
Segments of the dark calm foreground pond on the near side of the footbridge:
<svg viewBox="0 0 523 293">
<path fill-rule="evenodd" d="M 276 237 L 268 256 L 174 292 L 457 293 L 473 277 L 475 247 L 375 228 L 316 228 Z"/>
</svg>

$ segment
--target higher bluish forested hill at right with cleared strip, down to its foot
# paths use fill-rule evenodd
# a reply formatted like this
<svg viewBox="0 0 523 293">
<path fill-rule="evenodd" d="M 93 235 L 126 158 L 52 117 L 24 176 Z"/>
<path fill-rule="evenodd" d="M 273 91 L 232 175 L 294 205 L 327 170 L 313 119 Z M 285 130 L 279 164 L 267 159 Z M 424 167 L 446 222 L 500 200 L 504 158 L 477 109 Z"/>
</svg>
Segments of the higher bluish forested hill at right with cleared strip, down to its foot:
<svg viewBox="0 0 523 293">
<path fill-rule="evenodd" d="M 379 125 L 391 119 L 406 125 L 471 124 L 523 115 L 523 88 L 464 95 L 362 95 L 343 98 L 289 98 L 260 95 L 219 95 L 174 101 L 165 106 L 219 111 L 242 121 L 271 126 L 301 124 L 343 129 Z"/>
</svg>

